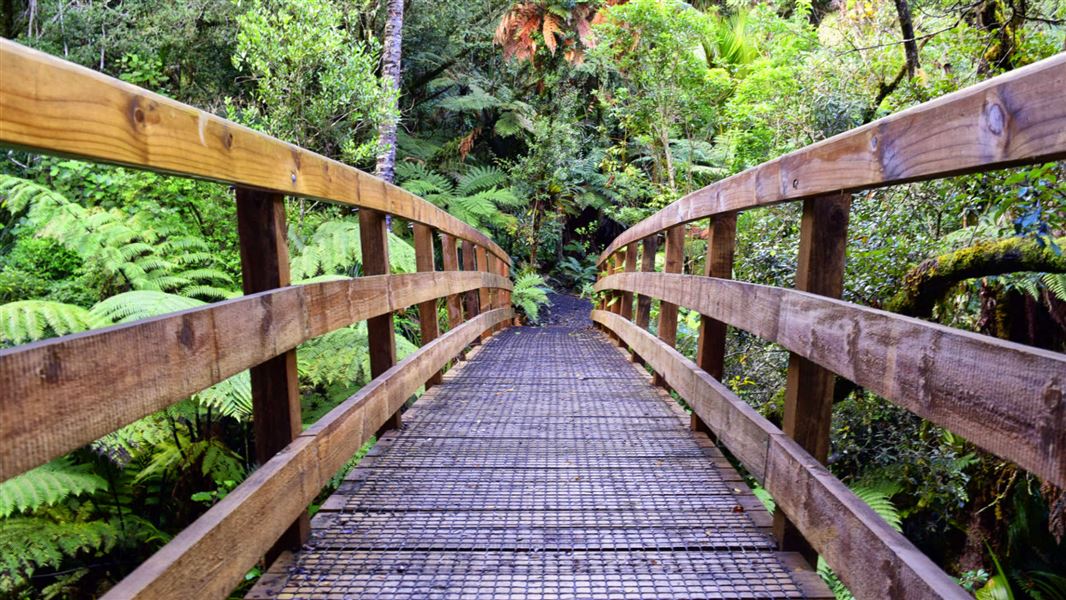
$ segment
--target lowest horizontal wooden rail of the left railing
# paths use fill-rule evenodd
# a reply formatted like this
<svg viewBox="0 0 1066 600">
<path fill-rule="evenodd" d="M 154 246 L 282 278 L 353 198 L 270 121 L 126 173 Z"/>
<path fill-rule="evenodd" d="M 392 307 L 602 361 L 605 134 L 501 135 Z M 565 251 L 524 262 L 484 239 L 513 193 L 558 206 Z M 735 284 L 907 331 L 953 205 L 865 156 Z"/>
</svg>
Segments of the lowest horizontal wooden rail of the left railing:
<svg viewBox="0 0 1066 600">
<path fill-rule="evenodd" d="M 470 342 L 513 317 L 483 312 L 374 378 L 257 469 L 104 598 L 226 598 L 374 432 Z"/>
</svg>

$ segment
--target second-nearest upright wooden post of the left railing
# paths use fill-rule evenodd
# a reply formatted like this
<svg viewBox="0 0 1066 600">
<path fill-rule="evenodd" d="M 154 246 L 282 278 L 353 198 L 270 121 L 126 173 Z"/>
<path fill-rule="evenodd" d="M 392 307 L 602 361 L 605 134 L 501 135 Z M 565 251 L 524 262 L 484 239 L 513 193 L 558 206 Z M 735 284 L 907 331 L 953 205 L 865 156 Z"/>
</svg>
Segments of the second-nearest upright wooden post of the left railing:
<svg viewBox="0 0 1066 600">
<path fill-rule="evenodd" d="M 388 275 L 389 238 L 385 226 L 385 213 L 370 209 L 359 209 L 359 245 L 362 248 L 362 274 Z M 367 338 L 370 351 L 370 375 L 376 377 L 397 363 L 395 329 L 392 313 L 367 320 Z M 399 427 L 400 411 L 392 415 L 381 431 Z"/>
</svg>

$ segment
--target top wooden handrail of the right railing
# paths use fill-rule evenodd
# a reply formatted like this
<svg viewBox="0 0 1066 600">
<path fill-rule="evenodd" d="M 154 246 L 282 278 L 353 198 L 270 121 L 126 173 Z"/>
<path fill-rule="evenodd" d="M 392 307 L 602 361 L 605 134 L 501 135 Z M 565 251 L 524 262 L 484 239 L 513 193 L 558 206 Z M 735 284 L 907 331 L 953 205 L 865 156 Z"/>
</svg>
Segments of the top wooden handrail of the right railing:
<svg viewBox="0 0 1066 600">
<path fill-rule="evenodd" d="M 1066 157 L 1066 53 L 919 104 L 712 183 L 615 238 L 608 257 L 723 212 Z"/>
</svg>

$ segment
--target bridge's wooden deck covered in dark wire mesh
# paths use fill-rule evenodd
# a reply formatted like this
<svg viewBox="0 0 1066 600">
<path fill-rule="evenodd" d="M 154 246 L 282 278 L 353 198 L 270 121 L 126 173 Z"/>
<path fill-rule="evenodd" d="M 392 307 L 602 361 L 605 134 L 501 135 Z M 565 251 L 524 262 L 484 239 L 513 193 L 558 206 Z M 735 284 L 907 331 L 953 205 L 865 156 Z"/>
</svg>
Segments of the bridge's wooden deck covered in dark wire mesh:
<svg viewBox="0 0 1066 600">
<path fill-rule="evenodd" d="M 830 597 L 592 328 L 515 327 L 384 435 L 249 598 Z"/>
</svg>

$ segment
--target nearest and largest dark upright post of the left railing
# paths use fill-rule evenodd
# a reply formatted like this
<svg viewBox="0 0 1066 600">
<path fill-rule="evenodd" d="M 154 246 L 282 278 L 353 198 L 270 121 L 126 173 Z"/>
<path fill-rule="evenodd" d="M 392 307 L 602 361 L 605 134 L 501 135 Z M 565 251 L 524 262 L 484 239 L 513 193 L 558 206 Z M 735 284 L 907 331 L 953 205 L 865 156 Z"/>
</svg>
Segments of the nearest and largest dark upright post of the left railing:
<svg viewBox="0 0 1066 600">
<path fill-rule="evenodd" d="M 286 240 L 285 197 L 281 194 L 237 189 L 237 231 L 241 246 L 241 275 L 245 294 L 289 286 L 289 246 Z M 277 319 L 282 319 L 277 315 Z M 264 340 L 263 343 L 269 343 Z M 256 460 L 264 465 L 300 435 L 300 382 L 296 351 L 290 350 L 251 369 L 252 425 Z M 268 565 L 285 550 L 307 541 L 305 510 L 278 538 L 264 557 Z"/>
</svg>

